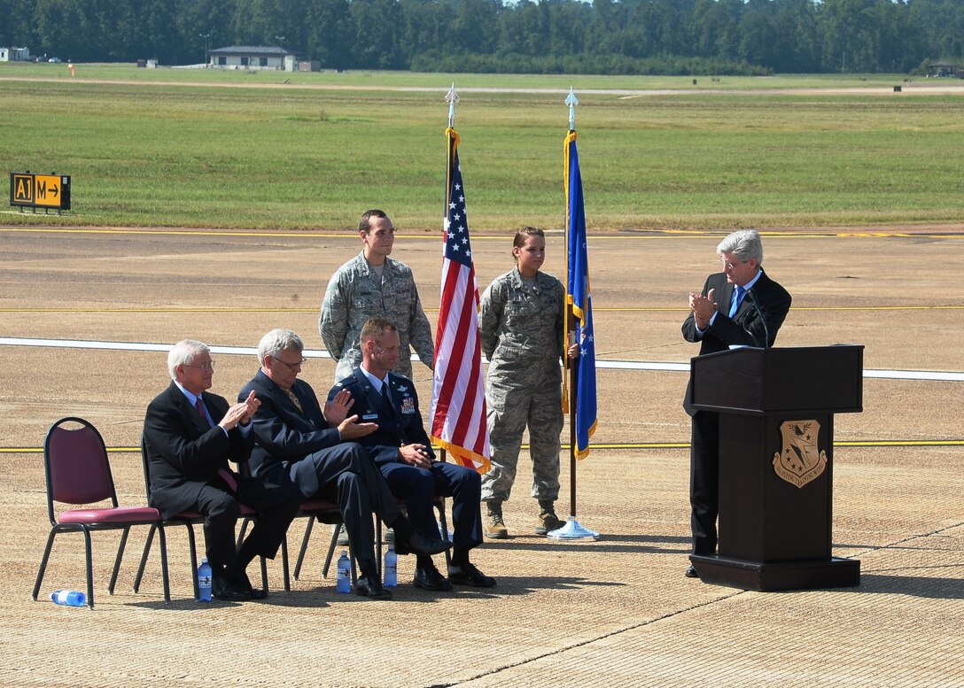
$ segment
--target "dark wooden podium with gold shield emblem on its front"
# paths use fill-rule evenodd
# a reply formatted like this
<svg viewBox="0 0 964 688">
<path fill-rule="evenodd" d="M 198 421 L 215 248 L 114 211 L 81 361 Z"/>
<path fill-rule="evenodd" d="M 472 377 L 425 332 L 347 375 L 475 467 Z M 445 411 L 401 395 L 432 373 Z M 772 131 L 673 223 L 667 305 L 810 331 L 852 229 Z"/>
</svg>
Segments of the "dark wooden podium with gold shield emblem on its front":
<svg viewBox="0 0 964 688">
<path fill-rule="evenodd" d="M 831 555 L 834 413 L 863 410 L 863 346 L 740 348 L 690 361 L 692 402 L 720 414 L 718 554 L 700 579 L 744 590 L 843 588 Z"/>
</svg>

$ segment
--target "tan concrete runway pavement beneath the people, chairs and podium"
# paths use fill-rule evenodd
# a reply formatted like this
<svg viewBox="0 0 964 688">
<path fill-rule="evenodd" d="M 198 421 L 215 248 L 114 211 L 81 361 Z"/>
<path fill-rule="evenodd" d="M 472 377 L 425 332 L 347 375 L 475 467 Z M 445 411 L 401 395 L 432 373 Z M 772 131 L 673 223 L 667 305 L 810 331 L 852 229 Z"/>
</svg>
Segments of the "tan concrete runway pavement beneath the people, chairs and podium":
<svg viewBox="0 0 964 688">
<path fill-rule="evenodd" d="M 415 270 L 433 321 L 438 239 L 415 229 L 393 256 Z M 590 239 L 601 361 L 683 364 L 685 294 L 716 268 L 719 233 Z M 511 232 L 473 237 L 480 288 L 509 270 Z M 546 270 L 562 276 L 561 236 Z M 764 267 L 793 294 L 778 346 L 863 344 L 874 370 L 964 371 L 959 227 L 806 230 L 764 235 Z M 288 327 L 321 349 L 317 306 L 333 270 L 361 250 L 348 233 L 251 234 L 0 228 L 0 337 L 168 345 L 199 338 L 254 347 Z M 839 415 L 834 554 L 861 561 L 853 589 L 751 593 L 683 577 L 688 553 L 688 418 L 677 368 L 599 371 L 600 429 L 612 447 L 578 463 L 577 516 L 598 542 L 531 533 L 524 459 L 506 504 L 512 538 L 475 559 L 491 591 L 418 591 L 401 558 L 395 599 L 336 595 L 321 577 L 327 529 L 282 593 L 264 602 L 191 598 L 186 539 L 169 534 L 173 601 L 156 556 L 131 591 L 144 533 L 133 533 L 115 595 L 117 537 L 94 534 L 93 611 L 33 602 L 48 529 L 39 448 L 80 415 L 114 449 L 120 499 L 143 502 L 137 446 L 147 402 L 168 384 L 163 351 L 18 346 L 0 373 L 0 684 L 11 686 L 960 686 L 964 685 L 964 458 L 957 380 L 868 378 L 864 412 Z M 163 348 L 163 347 L 162 347 Z M 213 390 L 254 375 L 250 354 L 220 353 Z M 333 382 L 331 360 L 304 376 Z M 953 375 L 951 375 L 951 378 Z M 416 364 L 428 398 L 430 372 Z M 565 462 L 564 462 L 565 463 Z M 564 469 L 564 485 L 570 471 Z M 563 500 L 565 511 L 568 499 Z M 289 543 L 301 542 L 296 522 Z M 317 532 L 321 530 L 323 532 Z M 200 537 L 200 531 L 199 531 Z M 84 587 L 82 545 L 61 536 L 42 593 Z M 254 572 L 254 568 L 252 569 Z"/>
</svg>

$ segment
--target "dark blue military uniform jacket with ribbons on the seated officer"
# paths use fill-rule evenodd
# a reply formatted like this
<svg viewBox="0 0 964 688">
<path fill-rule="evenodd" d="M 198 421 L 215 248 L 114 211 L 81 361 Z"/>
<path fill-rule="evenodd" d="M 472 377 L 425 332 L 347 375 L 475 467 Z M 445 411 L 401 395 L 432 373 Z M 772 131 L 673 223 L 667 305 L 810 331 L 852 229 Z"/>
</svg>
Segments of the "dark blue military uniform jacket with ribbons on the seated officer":
<svg viewBox="0 0 964 688">
<path fill-rule="evenodd" d="M 391 390 L 390 410 L 382 395 L 375 393 L 375 388 L 368 382 L 361 368 L 356 368 L 355 372 L 335 384 L 328 398 L 331 401 L 338 390 L 347 389 L 355 400 L 352 412 L 359 414 L 359 422 L 378 423 L 378 430 L 374 433 L 355 440 L 368 450 L 375 463 L 381 465 L 400 461 L 398 447 L 413 443 L 424 444 L 428 454 L 435 459 L 432 442 L 425 433 L 421 412 L 418 410 L 415 384 L 406 377 L 388 373 L 388 386 Z"/>
</svg>

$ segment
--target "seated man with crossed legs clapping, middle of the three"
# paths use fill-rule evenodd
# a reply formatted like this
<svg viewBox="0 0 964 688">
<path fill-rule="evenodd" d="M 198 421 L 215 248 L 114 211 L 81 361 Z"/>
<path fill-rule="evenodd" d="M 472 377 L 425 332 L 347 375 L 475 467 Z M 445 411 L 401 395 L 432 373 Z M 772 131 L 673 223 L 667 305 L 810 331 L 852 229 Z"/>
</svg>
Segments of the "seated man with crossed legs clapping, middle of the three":
<svg viewBox="0 0 964 688">
<path fill-rule="evenodd" d="M 399 554 L 430 556 L 451 543 L 439 538 L 438 529 L 416 533 L 368 453 L 349 441 L 378 429 L 348 415 L 354 404 L 351 394 L 335 395 L 322 412 L 314 390 L 298 379 L 304 349 L 301 338 L 290 330 L 272 330 L 257 346 L 261 369 L 238 395 L 245 399 L 254 394 L 261 402 L 254 417 L 252 469 L 254 475 L 289 485 L 303 497 L 317 495 L 337 502 L 361 569 L 355 592 L 387 599 L 391 593 L 382 586 L 375 565 L 373 511 L 395 529 Z"/>
</svg>

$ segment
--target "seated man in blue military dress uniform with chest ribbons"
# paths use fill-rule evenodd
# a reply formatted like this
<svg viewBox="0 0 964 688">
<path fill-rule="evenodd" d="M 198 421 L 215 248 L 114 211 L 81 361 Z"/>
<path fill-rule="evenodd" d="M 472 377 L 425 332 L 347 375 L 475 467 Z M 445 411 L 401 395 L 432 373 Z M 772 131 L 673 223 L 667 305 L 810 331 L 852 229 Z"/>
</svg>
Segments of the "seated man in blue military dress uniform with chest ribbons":
<svg viewBox="0 0 964 688">
<path fill-rule="evenodd" d="M 435 460 L 435 453 L 418 411 L 415 384 L 389 372 L 398 360 L 398 331 L 388 320 L 371 318 L 362 326 L 362 367 L 345 378 L 329 394 L 329 401 L 351 392 L 362 420 L 378 429 L 359 437 L 362 446 L 382 469 L 392 493 L 405 500 L 409 517 L 423 531 L 438 530 L 432 512 L 436 494 L 452 497 L 455 531 L 452 565 L 446 579 L 431 557 L 419 556 L 415 585 L 426 590 L 451 590 L 452 583 L 491 588 L 495 578 L 469 562 L 469 550 L 482 543 L 480 496 L 482 483 L 471 468 Z"/>
</svg>

